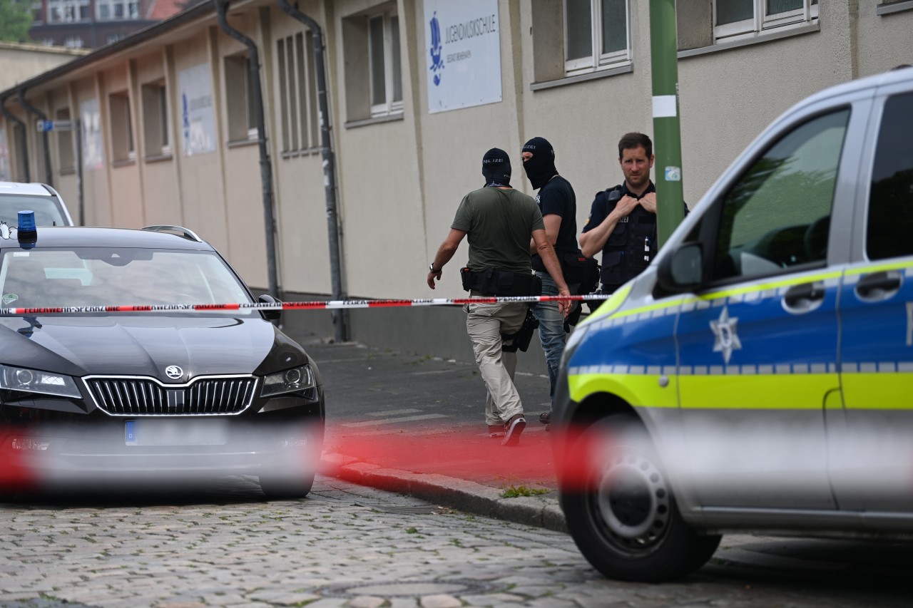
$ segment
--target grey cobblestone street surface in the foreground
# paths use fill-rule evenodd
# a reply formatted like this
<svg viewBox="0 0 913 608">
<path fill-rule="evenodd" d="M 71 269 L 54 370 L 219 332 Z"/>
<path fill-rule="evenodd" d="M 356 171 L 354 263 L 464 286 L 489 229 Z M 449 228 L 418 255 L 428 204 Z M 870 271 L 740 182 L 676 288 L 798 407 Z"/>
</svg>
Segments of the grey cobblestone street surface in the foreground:
<svg viewBox="0 0 913 608">
<path fill-rule="evenodd" d="M 908 547 L 731 537 L 663 585 L 612 582 L 570 537 L 319 477 L 0 504 L 0 606 L 901 606 Z"/>
</svg>

